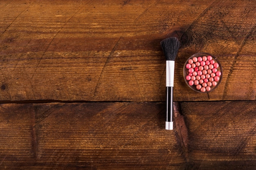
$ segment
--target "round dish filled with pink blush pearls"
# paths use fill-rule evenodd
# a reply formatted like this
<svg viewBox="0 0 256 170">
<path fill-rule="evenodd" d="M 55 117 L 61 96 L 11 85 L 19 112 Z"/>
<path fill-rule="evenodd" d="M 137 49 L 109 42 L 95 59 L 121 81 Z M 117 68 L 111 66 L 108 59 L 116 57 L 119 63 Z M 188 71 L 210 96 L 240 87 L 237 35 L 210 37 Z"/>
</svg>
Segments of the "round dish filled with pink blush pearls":
<svg viewBox="0 0 256 170">
<path fill-rule="evenodd" d="M 207 93 L 213 91 L 221 82 L 220 61 L 209 53 L 196 53 L 186 60 L 183 67 L 186 84 L 194 91 Z"/>
</svg>

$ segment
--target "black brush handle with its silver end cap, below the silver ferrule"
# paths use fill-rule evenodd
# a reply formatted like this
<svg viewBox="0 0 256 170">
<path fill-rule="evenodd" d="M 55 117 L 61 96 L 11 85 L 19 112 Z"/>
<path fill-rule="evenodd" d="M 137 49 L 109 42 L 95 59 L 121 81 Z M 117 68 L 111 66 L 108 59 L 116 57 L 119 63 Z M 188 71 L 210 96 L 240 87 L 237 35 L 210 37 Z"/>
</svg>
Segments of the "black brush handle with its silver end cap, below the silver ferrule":
<svg viewBox="0 0 256 170">
<path fill-rule="evenodd" d="M 166 87 L 165 129 L 173 130 L 173 87 Z"/>
</svg>

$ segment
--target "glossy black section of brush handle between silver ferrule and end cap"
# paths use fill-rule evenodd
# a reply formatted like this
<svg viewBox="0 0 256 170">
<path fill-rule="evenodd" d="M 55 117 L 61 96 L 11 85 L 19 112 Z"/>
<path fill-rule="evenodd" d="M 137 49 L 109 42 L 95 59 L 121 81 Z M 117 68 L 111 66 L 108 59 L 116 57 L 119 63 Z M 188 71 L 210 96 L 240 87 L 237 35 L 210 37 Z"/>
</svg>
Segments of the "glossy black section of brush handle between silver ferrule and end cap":
<svg viewBox="0 0 256 170">
<path fill-rule="evenodd" d="M 173 121 L 173 87 L 166 87 L 166 121 Z"/>
</svg>

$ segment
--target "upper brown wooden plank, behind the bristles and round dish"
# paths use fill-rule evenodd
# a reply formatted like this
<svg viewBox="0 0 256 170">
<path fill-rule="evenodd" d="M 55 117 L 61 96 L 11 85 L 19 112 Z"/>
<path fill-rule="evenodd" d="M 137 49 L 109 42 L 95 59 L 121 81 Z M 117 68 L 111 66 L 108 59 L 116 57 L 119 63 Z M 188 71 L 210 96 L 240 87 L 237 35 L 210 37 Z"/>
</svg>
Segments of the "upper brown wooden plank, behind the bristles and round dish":
<svg viewBox="0 0 256 170">
<path fill-rule="evenodd" d="M 159 42 L 177 36 L 175 101 L 256 99 L 252 0 L 0 1 L 0 100 L 164 101 Z M 224 68 L 198 94 L 182 67 L 197 52 Z"/>
</svg>

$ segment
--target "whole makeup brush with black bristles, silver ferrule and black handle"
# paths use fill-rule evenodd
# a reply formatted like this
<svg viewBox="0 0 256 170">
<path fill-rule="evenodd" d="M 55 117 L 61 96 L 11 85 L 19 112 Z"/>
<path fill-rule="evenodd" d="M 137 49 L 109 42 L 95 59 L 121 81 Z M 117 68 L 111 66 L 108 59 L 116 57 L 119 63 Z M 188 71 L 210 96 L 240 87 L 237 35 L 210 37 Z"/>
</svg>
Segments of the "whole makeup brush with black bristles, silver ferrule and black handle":
<svg viewBox="0 0 256 170">
<path fill-rule="evenodd" d="M 165 129 L 173 130 L 173 82 L 175 58 L 180 48 L 176 37 L 166 38 L 161 41 L 161 46 L 166 57 L 166 121 Z"/>
</svg>

